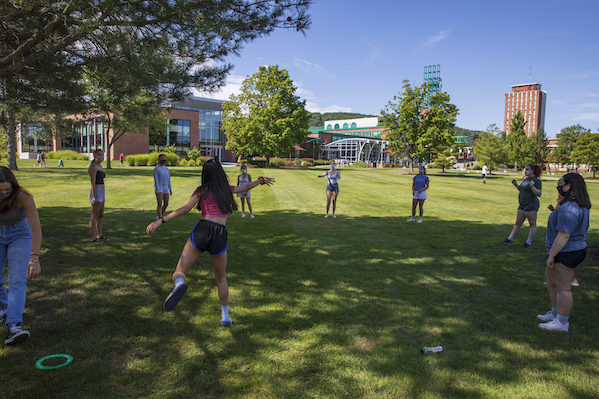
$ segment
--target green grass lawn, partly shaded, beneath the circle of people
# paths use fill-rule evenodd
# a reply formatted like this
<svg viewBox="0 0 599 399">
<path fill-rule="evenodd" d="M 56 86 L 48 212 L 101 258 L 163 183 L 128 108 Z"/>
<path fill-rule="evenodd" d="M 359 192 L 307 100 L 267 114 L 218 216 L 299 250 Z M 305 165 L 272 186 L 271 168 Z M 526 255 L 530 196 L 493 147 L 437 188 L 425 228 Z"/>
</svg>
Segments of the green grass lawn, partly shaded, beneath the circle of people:
<svg viewBox="0 0 599 399">
<path fill-rule="evenodd" d="M 87 163 L 34 162 L 20 161 L 17 178 L 39 209 L 42 275 L 29 283 L 31 338 L 0 349 L 3 399 L 599 397 L 594 210 L 570 332 L 537 327 L 549 309 L 544 236 L 555 178 L 543 181 L 527 250 L 528 227 L 500 244 L 516 217 L 515 174 L 483 185 L 480 174 L 433 171 L 416 224 L 406 222 L 404 169 L 342 169 L 337 219 L 323 218 L 321 169 L 250 169 L 277 182 L 252 191 L 256 219 L 229 219 L 234 324 L 224 328 L 208 255 L 177 308 L 162 310 L 199 215 L 146 235 L 156 215 L 151 168 L 107 171 L 110 241 L 91 243 Z M 200 171 L 171 168 L 170 211 L 187 202 Z M 238 169 L 228 173 L 236 181 Z M 588 188 L 599 205 L 599 184 Z M 442 354 L 419 352 L 437 345 Z M 56 353 L 74 360 L 35 368 Z"/>
</svg>

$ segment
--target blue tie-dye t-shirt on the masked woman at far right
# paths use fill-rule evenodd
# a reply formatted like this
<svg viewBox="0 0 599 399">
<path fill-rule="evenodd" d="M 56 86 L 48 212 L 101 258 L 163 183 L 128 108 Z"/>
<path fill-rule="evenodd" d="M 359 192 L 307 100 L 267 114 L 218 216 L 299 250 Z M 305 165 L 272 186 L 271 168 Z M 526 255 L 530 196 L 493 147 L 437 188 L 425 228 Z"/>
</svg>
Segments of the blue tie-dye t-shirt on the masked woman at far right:
<svg viewBox="0 0 599 399">
<path fill-rule="evenodd" d="M 560 252 L 580 251 L 587 247 L 587 230 L 589 229 L 589 210 L 579 206 L 576 201 L 568 201 L 559 209 L 551 212 L 547 220 L 545 243 L 547 253 L 553 245 L 558 231 L 570 234 L 570 239 Z"/>
</svg>

